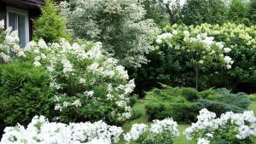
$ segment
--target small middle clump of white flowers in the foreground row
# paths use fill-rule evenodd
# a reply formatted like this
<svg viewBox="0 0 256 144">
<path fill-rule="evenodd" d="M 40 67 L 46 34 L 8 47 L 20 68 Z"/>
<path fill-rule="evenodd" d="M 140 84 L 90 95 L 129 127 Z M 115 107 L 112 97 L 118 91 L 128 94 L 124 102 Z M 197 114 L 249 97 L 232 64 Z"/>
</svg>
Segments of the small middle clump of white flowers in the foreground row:
<svg viewBox="0 0 256 144">
<path fill-rule="evenodd" d="M 124 135 L 129 144 L 171 144 L 173 138 L 178 136 L 177 122 L 172 118 L 154 120 L 151 128 L 146 124 L 133 124 L 131 130 Z"/>
</svg>

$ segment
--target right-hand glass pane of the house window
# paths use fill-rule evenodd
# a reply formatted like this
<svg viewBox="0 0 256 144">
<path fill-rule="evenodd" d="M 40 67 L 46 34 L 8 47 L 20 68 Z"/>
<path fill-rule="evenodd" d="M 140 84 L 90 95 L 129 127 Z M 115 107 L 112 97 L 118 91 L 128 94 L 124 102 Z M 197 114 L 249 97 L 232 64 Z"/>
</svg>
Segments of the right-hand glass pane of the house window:
<svg viewBox="0 0 256 144">
<path fill-rule="evenodd" d="M 26 46 L 26 17 L 18 14 L 18 33 L 20 38 L 20 46 Z"/>
</svg>

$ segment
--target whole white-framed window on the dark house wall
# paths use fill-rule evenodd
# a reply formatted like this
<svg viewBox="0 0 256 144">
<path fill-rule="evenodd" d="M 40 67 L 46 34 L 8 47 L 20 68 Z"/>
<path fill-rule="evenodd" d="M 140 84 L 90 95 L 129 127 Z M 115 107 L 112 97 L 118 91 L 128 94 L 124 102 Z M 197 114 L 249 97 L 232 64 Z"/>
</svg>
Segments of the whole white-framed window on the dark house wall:
<svg viewBox="0 0 256 144">
<path fill-rule="evenodd" d="M 28 12 L 26 10 L 7 7 L 7 26 L 18 31 L 20 46 L 25 47 L 29 42 Z"/>
</svg>

